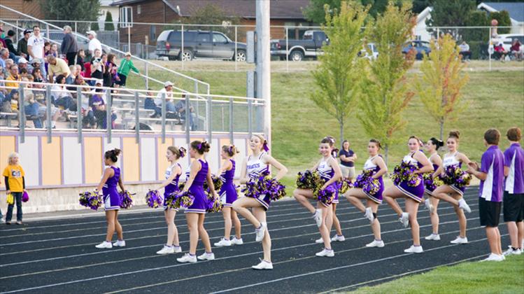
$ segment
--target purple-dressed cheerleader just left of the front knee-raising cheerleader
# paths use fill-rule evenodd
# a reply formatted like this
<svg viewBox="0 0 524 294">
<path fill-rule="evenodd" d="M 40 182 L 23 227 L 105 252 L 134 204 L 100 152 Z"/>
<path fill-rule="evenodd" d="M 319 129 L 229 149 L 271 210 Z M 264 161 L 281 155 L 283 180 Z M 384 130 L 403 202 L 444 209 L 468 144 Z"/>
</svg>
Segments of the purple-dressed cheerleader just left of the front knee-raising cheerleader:
<svg viewBox="0 0 524 294">
<path fill-rule="evenodd" d="M 242 245 L 241 225 L 239 217 L 236 216 L 236 211 L 232 211 L 231 207 L 233 202 L 235 202 L 238 195 L 236 194 L 236 187 L 233 183 L 234 171 L 235 171 L 235 161 L 232 159 L 236 153 L 239 151 L 234 145 L 222 146 L 222 151 L 220 152 L 220 157 L 224 160 L 222 167 L 218 169 L 220 174 L 220 180 L 222 181 L 222 188 L 220 188 L 220 202 L 222 202 L 222 216 L 224 216 L 224 237 L 220 239 L 215 246 L 231 246 L 231 245 Z M 235 237 L 229 239 L 231 234 L 231 227 L 234 225 Z"/>
</svg>

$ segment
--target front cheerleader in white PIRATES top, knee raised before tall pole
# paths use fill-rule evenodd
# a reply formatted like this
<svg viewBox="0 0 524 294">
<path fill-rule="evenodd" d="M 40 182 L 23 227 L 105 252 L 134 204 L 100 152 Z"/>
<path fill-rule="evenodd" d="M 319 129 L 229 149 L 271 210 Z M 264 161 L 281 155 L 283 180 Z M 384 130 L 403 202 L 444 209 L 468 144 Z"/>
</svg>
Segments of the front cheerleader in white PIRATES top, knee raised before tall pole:
<svg viewBox="0 0 524 294">
<path fill-rule="evenodd" d="M 260 134 L 255 134 L 250 139 L 250 149 L 252 154 L 242 162 L 240 183 L 247 183 L 250 179 L 257 179 L 260 174 L 269 172 L 269 165 L 278 169 L 275 179 L 278 181 L 285 176 L 288 169 L 280 162 L 276 161 L 271 155 L 267 154 L 267 140 Z M 253 269 L 273 269 L 271 263 L 271 237 L 267 230 L 266 211 L 269 209 L 271 199 L 267 195 L 260 195 L 258 198 L 241 197 L 233 203 L 233 209 L 241 214 L 246 220 L 255 226 L 255 240 L 262 241 L 264 259 L 258 265 L 253 265 Z M 253 209 L 253 214 L 248 209 Z"/>
</svg>

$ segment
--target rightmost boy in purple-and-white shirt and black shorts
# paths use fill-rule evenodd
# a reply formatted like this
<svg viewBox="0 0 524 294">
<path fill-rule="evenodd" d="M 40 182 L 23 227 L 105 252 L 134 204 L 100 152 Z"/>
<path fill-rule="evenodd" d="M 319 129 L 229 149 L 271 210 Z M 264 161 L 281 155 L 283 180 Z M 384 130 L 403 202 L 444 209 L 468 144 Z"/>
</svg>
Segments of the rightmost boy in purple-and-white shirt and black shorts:
<svg viewBox="0 0 524 294">
<path fill-rule="evenodd" d="M 521 129 L 511 127 L 506 136 L 510 146 L 504 151 L 504 222 L 508 225 L 511 245 L 504 255 L 519 255 L 524 238 L 524 150 L 518 144 Z"/>
</svg>

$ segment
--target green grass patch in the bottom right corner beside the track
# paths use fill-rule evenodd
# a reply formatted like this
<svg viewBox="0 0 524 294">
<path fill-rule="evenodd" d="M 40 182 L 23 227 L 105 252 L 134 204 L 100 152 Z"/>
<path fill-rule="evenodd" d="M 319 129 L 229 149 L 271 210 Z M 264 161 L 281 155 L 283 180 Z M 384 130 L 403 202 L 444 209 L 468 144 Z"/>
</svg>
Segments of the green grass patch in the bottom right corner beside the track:
<svg viewBox="0 0 524 294">
<path fill-rule="evenodd" d="M 524 293 L 524 255 L 438 267 L 350 293 Z"/>
</svg>

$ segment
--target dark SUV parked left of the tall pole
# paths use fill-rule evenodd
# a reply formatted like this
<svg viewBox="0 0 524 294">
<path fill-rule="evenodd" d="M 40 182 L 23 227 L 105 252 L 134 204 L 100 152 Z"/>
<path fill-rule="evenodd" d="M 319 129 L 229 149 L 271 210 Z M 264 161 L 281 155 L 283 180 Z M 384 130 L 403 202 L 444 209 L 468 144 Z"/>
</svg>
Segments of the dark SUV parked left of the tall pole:
<svg viewBox="0 0 524 294">
<path fill-rule="evenodd" d="M 182 33 L 184 50 L 182 50 Z M 235 52 L 236 45 L 236 52 Z M 231 41 L 220 31 L 173 30 L 162 31 L 157 38 L 155 53 L 169 60 L 190 61 L 193 58 L 218 58 L 246 61 L 246 43 Z"/>
</svg>

